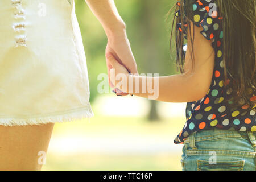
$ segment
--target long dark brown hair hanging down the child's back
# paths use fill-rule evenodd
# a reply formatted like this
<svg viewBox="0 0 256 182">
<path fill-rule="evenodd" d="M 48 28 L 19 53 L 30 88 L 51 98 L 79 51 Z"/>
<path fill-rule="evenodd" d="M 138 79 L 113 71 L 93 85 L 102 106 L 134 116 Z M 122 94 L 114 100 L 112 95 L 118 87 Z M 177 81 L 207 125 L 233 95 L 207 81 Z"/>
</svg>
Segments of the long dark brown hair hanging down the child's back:
<svg viewBox="0 0 256 182">
<path fill-rule="evenodd" d="M 217 3 L 220 11 L 219 16 L 223 17 L 224 75 L 225 82 L 229 82 L 229 84 L 225 84 L 225 89 L 232 89 L 232 94 L 225 102 L 229 102 L 234 107 L 246 104 L 247 107 L 254 107 L 255 109 L 255 0 L 216 0 L 215 3 Z M 172 22 L 171 43 L 174 24 L 181 22 L 181 29 L 184 28 L 184 12 L 186 12 L 185 19 L 187 19 L 188 27 L 191 27 L 189 19 L 192 20 L 193 18 L 190 16 L 192 15 L 192 7 L 189 4 L 192 4 L 186 4 L 188 7 L 183 6 L 184 0 L 181 0 L 180 7 L 176 6 L 180 10 L 181 15 L 177 18 L 174 17 Z M 182 73 L 185 60 L 185 55 L 182 51 L 184 34 L 176 27 L 175 35 L 176 63 L 177 68 Z M 193 35 L 190 38 L 192 42 L 191 57 L 194 64 Z"/>
</svg>

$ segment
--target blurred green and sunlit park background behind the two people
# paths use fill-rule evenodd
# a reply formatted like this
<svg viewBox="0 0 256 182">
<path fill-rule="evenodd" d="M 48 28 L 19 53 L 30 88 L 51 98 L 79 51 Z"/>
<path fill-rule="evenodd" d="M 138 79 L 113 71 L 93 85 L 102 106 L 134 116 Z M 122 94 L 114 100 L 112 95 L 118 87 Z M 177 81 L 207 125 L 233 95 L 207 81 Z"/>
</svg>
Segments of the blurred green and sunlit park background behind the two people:
<svg viewBox="0 0 256 182">
<path fill-rule="evenodd" d="M 84 42 L 90 102 L 95 116 L 56 123 L 43 170 L 181 170 L 182 144 L 174 144 L 185 122 L 185 104 L 135 96 L 99 94 L 97 76 L 106 73 L 106 35 L 86 3 L 76 2 Z M 139 73 L 177 73 L 170 52 L 175 0 L 115 1 L 126 22 Z M 174 12 L 173 12 L 174 14 Z"/>
</svg>

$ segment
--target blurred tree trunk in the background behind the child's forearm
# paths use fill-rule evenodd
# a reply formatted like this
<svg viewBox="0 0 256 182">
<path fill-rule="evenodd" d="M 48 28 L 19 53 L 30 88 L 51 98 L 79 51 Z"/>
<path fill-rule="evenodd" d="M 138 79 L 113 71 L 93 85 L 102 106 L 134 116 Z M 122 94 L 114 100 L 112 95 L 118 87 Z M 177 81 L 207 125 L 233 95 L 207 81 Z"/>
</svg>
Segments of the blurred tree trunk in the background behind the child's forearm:
<svg viewBox="0 0 256 182">
<path fill-rule="evenodd" d="M 174 73 L 174 67 L 170 65 L 170 36 L 164 22 L 165 15 L 168 12 L 170 1 L 137 1 L 139 14 L 135 22 L 136 34 L 139 35 L 137 42 L 140 57 L 138 61 L 139 68 L 144 73 L 159 73 L 159 76 L 170 75 Z M 168 27 L 170 27 L 168 25 Z M 132 40 L 132 39 L 131 39 Z M 159 120 L 157 112 L 157 102 L 150 100 L 151 109 L 148 113 L 149 121 Z"/>
</svg>

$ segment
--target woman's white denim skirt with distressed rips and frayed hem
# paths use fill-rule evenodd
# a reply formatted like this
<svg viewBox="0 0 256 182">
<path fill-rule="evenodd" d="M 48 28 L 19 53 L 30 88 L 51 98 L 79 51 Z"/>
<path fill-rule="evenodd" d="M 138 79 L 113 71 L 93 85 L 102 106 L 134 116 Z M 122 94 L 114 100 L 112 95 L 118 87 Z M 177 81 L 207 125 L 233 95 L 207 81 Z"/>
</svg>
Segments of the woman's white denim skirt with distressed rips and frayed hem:
<svg viewBox="0 0 256 182">
<path fill-rule="evenodd" d="M 92 117 L 73 0 L 2 0 L 0 17 L 0 125 Z"/>
</svg>

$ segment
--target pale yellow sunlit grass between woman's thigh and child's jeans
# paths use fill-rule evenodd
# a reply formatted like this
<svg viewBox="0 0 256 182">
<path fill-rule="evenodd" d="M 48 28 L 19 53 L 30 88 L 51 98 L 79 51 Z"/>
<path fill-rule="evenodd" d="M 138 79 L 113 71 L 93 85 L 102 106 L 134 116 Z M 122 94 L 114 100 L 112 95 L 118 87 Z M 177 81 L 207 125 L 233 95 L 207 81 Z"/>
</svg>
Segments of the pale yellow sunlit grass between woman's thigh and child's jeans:
<svg viewBox="0 0 256 182">
<path fill-rule="evenodd" d="M 102 117 L 98 114 L 89 121 L 56 123 L 43 170 L 180 170 L 181 150 L 164 148 L 163 151 L 147 152 L 147 147 L 151 148 L 152 144 L 154 149 L 159 143 L 166 144 L 167 148 L 177 147 L 173 140 L 182 125 L 181 118 L 150 122 L 138 117 Z M 77 140 L 84 138 L 85 142 L 76 143 L 74 136 Z M 86 146 L 88 140 L 95 138 L 108 141 L 112 148 L 106 149 L 103 145 L 102 150 L 94 150 L 93 146 Z M 57 140 L 62 140 L 64 146 L 56 146 Z M 72 151 L 69 144 L 74 143 L 77 148 Z M 145 151 L 143 147 L 142 151 L 133 148 L 144 143 Z"/>
</svg>

